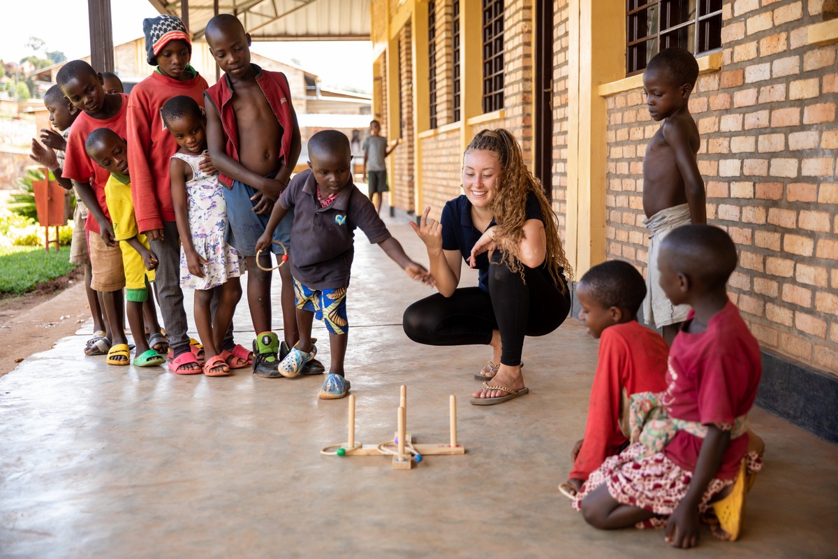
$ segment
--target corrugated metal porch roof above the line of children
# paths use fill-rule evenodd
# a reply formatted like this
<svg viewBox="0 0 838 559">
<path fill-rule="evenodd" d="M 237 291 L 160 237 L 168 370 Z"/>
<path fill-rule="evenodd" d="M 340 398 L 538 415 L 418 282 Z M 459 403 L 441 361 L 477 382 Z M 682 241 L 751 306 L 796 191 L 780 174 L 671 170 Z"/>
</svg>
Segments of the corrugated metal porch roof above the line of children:
<svg viewBox="0 0 838 559">
<path fill-rule="evenodd" d="M 160 13 L 181 15 L 189 2 L 189 31 L 196 38 L 213 17 L 213 0 L 149 0 Z M 255 41 L 370 39 L 370 0 L 220 0 Z"/>
</svg>

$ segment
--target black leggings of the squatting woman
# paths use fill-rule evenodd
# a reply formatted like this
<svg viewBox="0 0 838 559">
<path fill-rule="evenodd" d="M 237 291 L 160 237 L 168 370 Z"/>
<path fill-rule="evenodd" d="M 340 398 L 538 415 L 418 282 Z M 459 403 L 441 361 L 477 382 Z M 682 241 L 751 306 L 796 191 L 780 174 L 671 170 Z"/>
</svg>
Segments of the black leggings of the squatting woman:
<svg viewBox="0 0 838 559">
<path fill-rule="evenodd" d="M 503 264 L 489 266 L 489 292 L 463 287 L 451 297 L 436 293 L 406 308 L 402 325 L 419 344 L 489 344 L 500 331 L 500 362 L 520 365 L 524 336 L 550 334 L 567 318 L 570 290 L 553 285 L 541 269 L 525 267 L 524 279 Z M 561 292 L 564 287 L 565 292 Z"/>
</svg>

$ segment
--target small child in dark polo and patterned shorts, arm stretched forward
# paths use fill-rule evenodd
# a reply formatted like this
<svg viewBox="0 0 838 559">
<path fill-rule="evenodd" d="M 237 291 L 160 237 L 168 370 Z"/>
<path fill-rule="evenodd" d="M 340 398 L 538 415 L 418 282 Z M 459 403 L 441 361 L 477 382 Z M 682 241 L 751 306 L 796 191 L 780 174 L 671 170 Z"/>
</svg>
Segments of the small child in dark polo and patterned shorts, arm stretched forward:
<svg viewBox="0 0 838 559">
<path fill-rule="evenodd" d="M 265 233 L 256 250 L 271 246 L 273 231 L 294 210 L 291 236 L 294 259 L 290 262 L 297 301 L 300 341 L 279 364 L 282 376 L 294 377 L 317 355 L 311 333 L 314 318 L 328 329 L 331 366 L 318 398 L 332 400 L 346 396 L 349 380 L 344 378 L 349 323 L 346 290 L 354 257 L 354 230 L 360 227 L 370 242 L 377 244 L 410 277 L 430 283 L 427 270 L 411 261 L 399 241 L 375 213 L 375 208 L 352 183 L 349 140 L 343 132 L 323 130 L 308 140 L 308 166 L 297 174 L 274 205 Z"/>
</svg>

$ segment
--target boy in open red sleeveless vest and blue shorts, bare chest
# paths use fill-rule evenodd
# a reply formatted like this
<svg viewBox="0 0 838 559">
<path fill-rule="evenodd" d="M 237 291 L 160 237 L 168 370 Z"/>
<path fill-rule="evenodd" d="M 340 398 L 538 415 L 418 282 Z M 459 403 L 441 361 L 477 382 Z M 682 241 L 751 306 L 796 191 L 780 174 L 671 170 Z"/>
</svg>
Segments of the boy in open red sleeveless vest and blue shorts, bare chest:
<svg viewBox="0 0 838 559">
<path fill-rule="evenodd" d="M 227 241 L 247 263 L 247 302 L 256 340 L 253 372 L 277 378 L 279 361 L 297 343 L 297 316 L 291 267 L 279 269 L 282 279 L 282 319 L 285 344 L 280 349 L 271 331 L 271 272 L 256 266 L 256 241 L 265 231 L 273 204 L 300 155 L 300 129 L 291 104 L 288 81 L 282 73 L 251 64 L 251 37 L 235 16 L 222 13 L 206 27 L 209 52 L 225 71 L 206 97 L 209 155 L 220 172 L 227 203 Z M 288 249 L 293 219 L 284 220 L 273 236 Z M 272 246 L 280 259 L 282 248 Z M 263 266 L 269 264 L 267 259 Z M 267 267 L 267 266 L 266 266 Z M 323 365 L 309 365 L 305 373 L 322 373 Z"/>
</svg>

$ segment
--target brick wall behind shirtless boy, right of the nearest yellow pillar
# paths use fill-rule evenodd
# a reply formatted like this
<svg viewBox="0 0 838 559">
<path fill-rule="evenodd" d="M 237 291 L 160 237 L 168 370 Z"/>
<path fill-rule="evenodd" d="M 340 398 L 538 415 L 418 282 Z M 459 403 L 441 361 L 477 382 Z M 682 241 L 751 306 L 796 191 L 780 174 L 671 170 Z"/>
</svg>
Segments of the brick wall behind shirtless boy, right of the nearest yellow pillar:
<svg viewBox="0 0 838 559">
<path fill-rule="evenodd" d="M 699 77 L 690 109 L 708 220 L 740 251 L 732 300 L 763 348 L 836 373 L 836 47 L 807 44 L 806 29 L 825 4 L 725 3 L 722 69 Z M 643 270 L 642 162 L 659 127 L 640 90 L 608 98 L 608 257 Z"/>
</svg>

